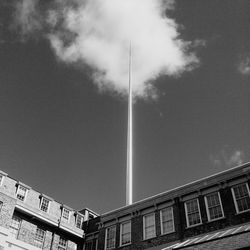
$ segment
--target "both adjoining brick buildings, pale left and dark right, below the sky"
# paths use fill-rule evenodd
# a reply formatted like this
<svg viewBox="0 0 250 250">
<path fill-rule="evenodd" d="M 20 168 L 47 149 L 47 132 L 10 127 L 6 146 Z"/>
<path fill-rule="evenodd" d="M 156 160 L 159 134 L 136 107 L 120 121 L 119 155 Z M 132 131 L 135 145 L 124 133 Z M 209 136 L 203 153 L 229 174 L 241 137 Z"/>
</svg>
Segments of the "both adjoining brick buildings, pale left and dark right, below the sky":
<svg viewBox="0 0 250 250">
<path fill-rule="evenodd" d="M 97 215 L 0 172 L 0 250 L 250 249 L 250 163 Z"/>
</svg>

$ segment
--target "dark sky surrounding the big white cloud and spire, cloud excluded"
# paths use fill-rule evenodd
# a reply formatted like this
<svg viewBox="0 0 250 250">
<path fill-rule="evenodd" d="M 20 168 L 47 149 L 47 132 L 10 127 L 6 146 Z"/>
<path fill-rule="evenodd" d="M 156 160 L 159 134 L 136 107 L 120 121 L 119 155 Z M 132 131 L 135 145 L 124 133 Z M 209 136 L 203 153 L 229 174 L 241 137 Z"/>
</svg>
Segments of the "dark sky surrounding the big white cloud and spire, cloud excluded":
<svg viewBox="0 0 250 250">
<path fill-rule="evenodd" d="M 75 209 L 125 205 L 126 99 L 90 70 L 25 41 L 0 3 L 0 168 Z M 250 1 L 177 0 L 181 38 L 205 41 L 198 68 L 156 80 L 134 104 L 134 200 L 249 161 Z"/>
</svg>

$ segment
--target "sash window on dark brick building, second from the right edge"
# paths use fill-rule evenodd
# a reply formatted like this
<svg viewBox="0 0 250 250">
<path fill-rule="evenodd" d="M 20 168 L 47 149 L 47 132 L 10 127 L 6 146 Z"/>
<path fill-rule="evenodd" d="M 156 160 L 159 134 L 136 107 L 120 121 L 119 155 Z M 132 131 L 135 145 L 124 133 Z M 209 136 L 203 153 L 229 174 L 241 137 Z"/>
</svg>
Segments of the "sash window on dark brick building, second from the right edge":
<svg viewBox="0 0 250 250">
<path fill-rule="evenodd" d="M 219 193 L 206 195 L 205 204 L 209 221 L 224 217 Z"/>
</svg>

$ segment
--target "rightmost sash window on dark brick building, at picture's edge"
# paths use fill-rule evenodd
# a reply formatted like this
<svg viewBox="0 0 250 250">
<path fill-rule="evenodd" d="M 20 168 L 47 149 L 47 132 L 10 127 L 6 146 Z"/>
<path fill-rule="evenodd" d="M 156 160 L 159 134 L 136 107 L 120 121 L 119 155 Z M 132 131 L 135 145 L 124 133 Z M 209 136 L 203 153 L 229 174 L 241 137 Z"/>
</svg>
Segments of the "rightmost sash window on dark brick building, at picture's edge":
<svg viewBox="0 0 250 250">
<path fill-rule="evenodd" d="M 237 213 L 250 210 L 250 193 L 247 183 L 232 187 L 232 193 Z"/>
</svg>

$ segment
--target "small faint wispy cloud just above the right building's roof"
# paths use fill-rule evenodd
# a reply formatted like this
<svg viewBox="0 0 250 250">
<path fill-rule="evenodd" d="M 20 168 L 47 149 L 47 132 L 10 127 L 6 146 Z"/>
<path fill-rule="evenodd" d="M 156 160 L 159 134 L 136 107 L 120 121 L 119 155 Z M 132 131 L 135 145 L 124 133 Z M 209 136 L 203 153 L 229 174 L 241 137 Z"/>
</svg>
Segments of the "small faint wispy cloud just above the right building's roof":
<svg viewBox="0 0 250 250">
<path fill-rule="evenodd" d="M 219 153 L 210 155 L 210 161 L 217 168 L 234 167 L 244 162 L 245 154 L 239 149 L 229 149 L 225 146 Z"/>
</svg>

